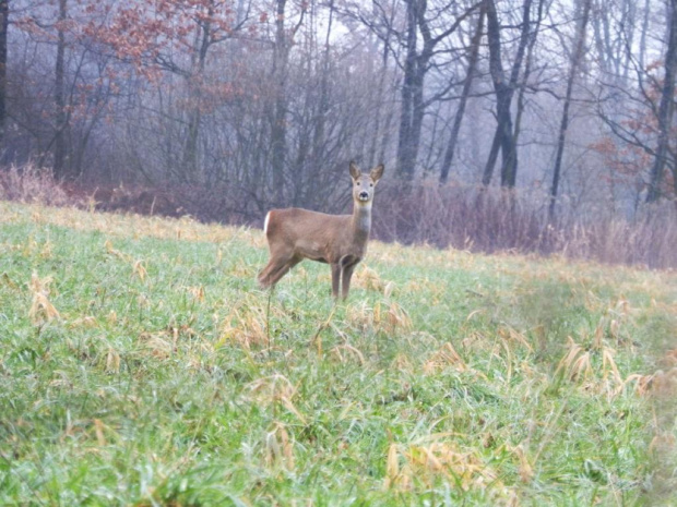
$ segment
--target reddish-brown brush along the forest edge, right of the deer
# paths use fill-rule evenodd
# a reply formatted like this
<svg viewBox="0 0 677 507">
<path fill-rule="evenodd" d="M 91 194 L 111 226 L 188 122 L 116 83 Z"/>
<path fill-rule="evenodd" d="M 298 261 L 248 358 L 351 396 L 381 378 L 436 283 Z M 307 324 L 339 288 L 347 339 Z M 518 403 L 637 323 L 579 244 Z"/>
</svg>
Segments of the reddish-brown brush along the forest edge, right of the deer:
<svg viewBox="0 0 677 507">
<path fill-rule="evenodd" d="M 548 195 L 537 192 L 421 184 L 381 189 L 373 236 L 472 252 L 561 254 L 611 264 L 677 267 L 677 209 L 663 202 L 632 220 L 604 208 L 563 208 L 548 219 Z"/>
</svg>

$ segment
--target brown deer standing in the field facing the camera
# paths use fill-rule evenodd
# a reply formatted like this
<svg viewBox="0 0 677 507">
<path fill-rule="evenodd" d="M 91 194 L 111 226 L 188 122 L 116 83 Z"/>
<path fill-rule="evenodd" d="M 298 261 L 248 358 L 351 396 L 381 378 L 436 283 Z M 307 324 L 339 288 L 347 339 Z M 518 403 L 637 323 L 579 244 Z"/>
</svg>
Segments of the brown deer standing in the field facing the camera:
<svg viewBox="0 0 677 507">
<path fill-rule="evenodd" d="M 353 178 L 353 215 L 328 215 L 302 208 L 271 209 L 263 231 L 270 261 L 259 273 L 262 289 L 274 287 L 302 259 L 331 266 L 332 297 L 345 300 L 355 266 L 365 257 L 371 231 L 371 205 L 376 185 L 383 176 L 381 164 L 367 174 L 349 164 Z"/>
</svg>

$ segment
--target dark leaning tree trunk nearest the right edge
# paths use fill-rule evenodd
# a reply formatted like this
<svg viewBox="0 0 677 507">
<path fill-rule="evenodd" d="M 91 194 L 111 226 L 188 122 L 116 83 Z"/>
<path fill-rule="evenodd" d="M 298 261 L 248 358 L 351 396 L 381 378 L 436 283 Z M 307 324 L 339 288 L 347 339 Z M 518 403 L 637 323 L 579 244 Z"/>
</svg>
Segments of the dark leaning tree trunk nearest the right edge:
<svg viewBox="0 0 677 507">
<path fill-rule="evenodd" d="M 675 72 L 677 71 L 677 0 L 669 2 L 669 23 L 667 28 L 667 51 L 665 55 L 665 77 L 658 106 L 658 145 L 651 168 L 646 202 L 653 203 L 661 197 L 661 185 L 667 158 L 669 157 L 670 126 L 675 111 Z M 673 162 L 674 164 L 674 162 Z"/>
</svg>

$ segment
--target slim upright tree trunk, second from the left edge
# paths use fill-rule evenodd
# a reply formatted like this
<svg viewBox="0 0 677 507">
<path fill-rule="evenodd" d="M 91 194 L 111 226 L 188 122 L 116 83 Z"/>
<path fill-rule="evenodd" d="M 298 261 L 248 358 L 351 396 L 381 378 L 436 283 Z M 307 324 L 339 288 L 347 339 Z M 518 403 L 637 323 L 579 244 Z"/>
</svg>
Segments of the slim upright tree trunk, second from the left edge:
<svg viewBox="0 0 677 507">
<path fill-rule="evenodd" d="M 66 111 L 64 96 L 64 59 L 66 59 L 66 27 L 63 23 L 68 15 L 68 0 L 59 0 L 59 23 L 57 26 L 57 61 L 55 69 L 55 107 L 56 107 L 56 133 L 55 133 L 55 160 L 54 176 L 58 180 L 68 178 L 67 171 L 67 129 L 68 114 Z"/>
</svg>

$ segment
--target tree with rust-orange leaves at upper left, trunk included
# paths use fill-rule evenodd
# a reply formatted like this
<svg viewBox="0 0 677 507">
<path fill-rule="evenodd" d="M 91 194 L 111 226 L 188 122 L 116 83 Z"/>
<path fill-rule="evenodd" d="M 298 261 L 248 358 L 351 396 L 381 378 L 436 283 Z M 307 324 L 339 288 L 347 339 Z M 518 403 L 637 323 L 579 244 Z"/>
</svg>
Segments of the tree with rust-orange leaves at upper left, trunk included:
<svg viewBox="0 0 677 507">
<path fill-rule="evenodd" d="M 108 12 L 111 8 L 104 5 Z M 180 148 L 173 146 L 168 162 L 174 176 L 183 182 L 201 182 L 200 137 L 205 112 L 213 110 L 212 98 L 223 99 L 233 93 L 223 73 L 206 75 L 207 60 L 216 45 L 223 45 L 239 34 L 250 17 L 250 2 L 233 0 L 150 0 L 129 2 L 107 14 L 110 22 L 102 26 L 92 23 L 88 35 L 108 48 L 120 61 L 168 92 L 171 80 L 179 77 L 185 99 L 173 102 L 177 122 L 181 125 Z M 221 80 L 218 80 L 221 77 Z M 174 94 L 171 94 L 174 97 Z M 176 114 L 173 112 L 173 114 Z"/>
</svg>

